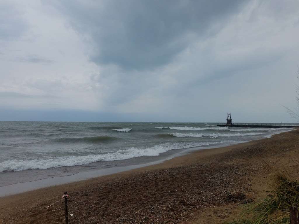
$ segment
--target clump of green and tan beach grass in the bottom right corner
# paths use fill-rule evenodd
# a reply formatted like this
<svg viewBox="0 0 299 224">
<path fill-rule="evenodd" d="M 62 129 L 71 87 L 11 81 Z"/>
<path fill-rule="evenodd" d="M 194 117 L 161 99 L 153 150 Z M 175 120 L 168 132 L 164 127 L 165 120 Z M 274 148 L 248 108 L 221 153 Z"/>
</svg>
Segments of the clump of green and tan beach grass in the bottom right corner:
<svg viewBox="0 0 299 224">
<path fill-rule="evenodd" d="M 272 187 L 264 200 L 245 205 L 242 217 L 249 218 L 229 224 L 289 224 L 289 207 L 299 206 L 299 182 L 289 174 L 278 174 Z"/>
</svg>

